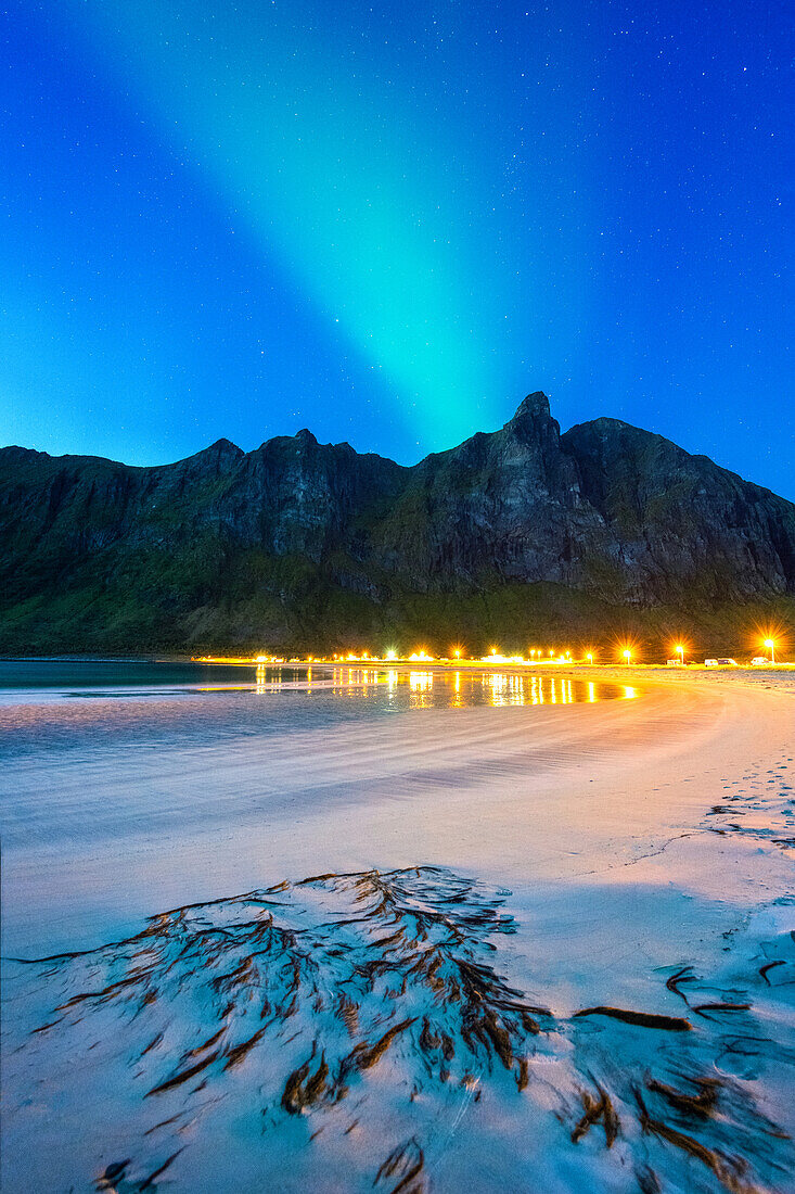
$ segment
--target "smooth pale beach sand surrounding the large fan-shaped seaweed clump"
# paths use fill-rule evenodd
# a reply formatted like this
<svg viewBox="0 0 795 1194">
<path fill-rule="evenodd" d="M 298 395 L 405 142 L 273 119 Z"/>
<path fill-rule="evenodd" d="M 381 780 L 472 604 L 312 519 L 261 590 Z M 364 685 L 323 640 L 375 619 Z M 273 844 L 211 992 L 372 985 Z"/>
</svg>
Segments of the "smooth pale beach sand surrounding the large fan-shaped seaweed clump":
<svg viewBox="0 0 795 1194">
<path fill-rule="evenodd" d="M 571 675 L 590 678 L 584 669 Z M 522 1096 L 532 1101 L 532 1127 L 499 1087 L 492 1094 L 487 1084 L 482 1108 L 467 1110 L 463 1139 L 456 1125 L 469 1103 L 446 1112 L 433 1104 L 433 1127 L 423 1121 L 429 1188 L 652 1190 L 655 1180 L 682 1190 L 795 1188 L 789 1146 L 753 1118 L 768 1115 L 795 1133 L 788 1094 L 795 1061 L 795 678 L 624 667 L 591 675 L 631 687 L 637 698 L 554 709 L 417 709 L 364 725 L 285 730 L 267 740 L 240 740 L 222 758 L 215 753 L 211 776 L 201 747 L 147 747 L 131 752 L 112 776 L 99 776 L 95 789 L 86 786 L 85 769 L 72 777 L 63 759 L 20 765 L 5 795 L 12 841 L 5 952 L 13 952 L 10 941 L 39 953 L 93 948 L 164 909 L 282 879 L 449 868 L 510 891 L 505 906 L 518 931 L 500 942 L 493 965 L 556 1022 L 574 1027 L 561 1028 L 532 1057 L 535 1078 Z M 94 708 L 91 716 L 99 714 Z M 130 718 L 138 715 L 130 710 Z M 36 789 L 54 793 L 41 825 L 31 813 Z M 759 974 L 765 959 L 778 964 L 769 978 Z M 665 986 L 683 967 L 694 975 L 692 987 L 683 990 L 702 1003 L 748 1003 L 752 1010 L 694 1013 Z M 600 1004 L 689 1016 L 697 1032 L 571 1020 L 578 1009 Z M 685 1036 L 686 1048 L 679 1041 Z M 387 1095 L 378 1095 L 381 1066 L 372 1072 L 375 1107 Z M 384 1072 L 398 1082 L 386 1063 Z M 486 1083 L 485 1073 L 479 1081 Z M 713 1150 L 717 1169 L 642 1131 L 633 1091 L 647 1089 L 649 1073 L 691 1093 L 686 1082 L 694 1076 L 726 1083 L 722 1119 L 704 1127 L 697 1116 L 677 1119 L 668 1107 L 666 1120 L 671 1131 Z M 621 1135 L 610 1150 L 603 1128 L 571 1141 L 583 1112 L 579 1091 L 592 1079 L 611 1090 L 618 1108 Z M 740 1130 L 742 1100 L 756 1109 Z M 430 1115 L 430 1106 L 423 1114 Z M 18 1124 L 18 1140 L 30 1140 L 30 1116 Z M 297 1189 L 298 1181 L 319 1190 L 371 1188 L 363 1156 L 375 1147 L 374 1135 L 377 1162 L 389 1152 L 382 1124 L 356 1145 L 339 1121 L 340 1141 L 359 1150 L 356 1165 L 353 1153 L 347 1161 L 334 1150 L 315 1155 L 309 1137 L 296 1138 L 294 1128 L 291 1121 L 272 1126 L 271 1149 L 297 1167 L 294 1181 L 284 1177 L 273 1188 Z M 107 1124 L 104 1131 L 111 1132 Z M 217 1121 L 214 1131 L 234 1137 L 238 1130 Z M 741 1139 L 745 1131 L 750 1135 Z M 113 1133 L 113 1147 L 134 1155 L 136 1143 L 128 1144 L 118 1125 Z M 208 1139 L 217 1144 L 217 1135 Z M 202 1188 L 259 1188 L 252 1138 L 242 1132 L 234 1143 L 223 1139 L 236 1176 L 224 1183 L 220 1170 L 209 1178 L 205 1169 L 210 1184 Z M 63 1147 L 63 1133 L 45 1132 L 39 1147 L 42 1140 L 44 1168 L 31 1170 L 37 1175 L 47 1173 L 53 1149 Z M 184 1188 L 197 1188 L 196 1158 L 211 1165 L 202 1140 L 193 1143 L 195 1151 L 186 1150 L 170 1171 L 174 1181 L 181 1175 Z M 69 1174 L 97 1165 L 97 1147 L 93 1137 L 85 1140 Z M 161 1159 L 166 1153 L 164 1143 Z M 748 1163 L 742 1177 L 729 1163 L 735 1155 Z M 101 1156 L 104 1163 L 116 1158 L 112 1150 Z M 8 1188 L 26 1188 L 18 1164 L 17 1157 Z M 350 1184 L 339 1176 L 346 1165 Z"/>
</svg>

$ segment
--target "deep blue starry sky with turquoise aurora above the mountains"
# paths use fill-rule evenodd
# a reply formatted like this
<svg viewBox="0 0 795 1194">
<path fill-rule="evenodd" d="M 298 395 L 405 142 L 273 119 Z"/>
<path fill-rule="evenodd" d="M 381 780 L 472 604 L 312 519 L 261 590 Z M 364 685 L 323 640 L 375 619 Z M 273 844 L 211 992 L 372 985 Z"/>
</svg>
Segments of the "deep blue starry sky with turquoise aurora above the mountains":
<svg viewBox="0 0 795 1194">
<path fill-rule="evenodd" d="M 0 443 L 412 463 L 543 389 L 795 499 L 789 17 L 10 0 Z"/>
</svg>

